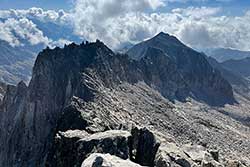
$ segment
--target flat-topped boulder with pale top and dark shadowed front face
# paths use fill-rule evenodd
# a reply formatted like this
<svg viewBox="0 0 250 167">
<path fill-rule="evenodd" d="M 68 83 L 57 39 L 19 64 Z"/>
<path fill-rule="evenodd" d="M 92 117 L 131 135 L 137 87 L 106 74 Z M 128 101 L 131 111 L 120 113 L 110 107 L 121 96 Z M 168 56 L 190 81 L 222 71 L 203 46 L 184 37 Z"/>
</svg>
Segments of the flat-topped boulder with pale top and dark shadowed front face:
<svg viewBox="0 0 250 167">
<path fill-rule="evenodd" d="M 129 132 L 119 130 L 92 135 L 80 130 L 59 132 L 47 158 L 47 166 L 81 166 L 83 160 L 92 153 L 110 153 L 127 159 L 130 137 Z"/>
</svg>

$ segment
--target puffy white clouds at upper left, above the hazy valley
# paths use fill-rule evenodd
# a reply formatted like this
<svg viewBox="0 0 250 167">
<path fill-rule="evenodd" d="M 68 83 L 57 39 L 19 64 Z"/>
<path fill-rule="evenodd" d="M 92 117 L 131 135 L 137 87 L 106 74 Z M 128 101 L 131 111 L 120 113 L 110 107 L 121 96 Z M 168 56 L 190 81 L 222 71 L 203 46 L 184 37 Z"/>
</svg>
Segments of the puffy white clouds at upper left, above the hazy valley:
<svg viewBox="0 0 250 167">
<path fill-rule="evenodd" d="M 23 46 L 25 44 L 44 46 L 62 46 L 69 43 L 65 39 L 53 40 L 44 35 L 44 32 L 33 22 L 33 19 L 41 23 L 68 24 L 70 15 L 63 10 L 44 11 L 41 8 L 28 10 L 0 10 L 0 40 L 7 41 L 11 46 Z M 49 27 L 48 27 L 49 28 Z"/>
</svg>

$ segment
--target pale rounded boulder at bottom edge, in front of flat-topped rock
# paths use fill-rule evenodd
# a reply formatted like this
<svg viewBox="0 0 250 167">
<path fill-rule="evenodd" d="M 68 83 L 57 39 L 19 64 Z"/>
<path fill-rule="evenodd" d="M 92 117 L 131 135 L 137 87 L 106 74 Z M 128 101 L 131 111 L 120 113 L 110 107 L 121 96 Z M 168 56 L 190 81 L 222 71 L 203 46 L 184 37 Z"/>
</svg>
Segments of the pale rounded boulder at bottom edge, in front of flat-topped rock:
<svg viewBox="0 0 250 167">
<path fill-rule="evenodd" d="M 123 160 L 110 154 L 91 154 L 82 163 L 81 167 L 141 167 L 129 160 Z"/>
</svg>

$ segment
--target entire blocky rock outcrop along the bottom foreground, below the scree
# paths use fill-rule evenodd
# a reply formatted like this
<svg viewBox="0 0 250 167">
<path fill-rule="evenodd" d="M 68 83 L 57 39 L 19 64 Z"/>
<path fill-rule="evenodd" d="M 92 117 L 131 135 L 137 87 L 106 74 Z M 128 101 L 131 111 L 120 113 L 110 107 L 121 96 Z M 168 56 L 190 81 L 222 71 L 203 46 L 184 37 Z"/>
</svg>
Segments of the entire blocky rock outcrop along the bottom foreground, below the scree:
<svg viewBox="0 0 250 167">
<path fill-rule="evenodd" d="M 186 144 L 181 147 L 157 136 L 147 128 L 133 127 L 88 134 L 80 130 L 59 132 L 46 166 L 75 167 L 233 167 L 239 161 L 219 158 L 219 151 Z M 119 167 L 120 167 L 119 166 Z"/>
</svg>

